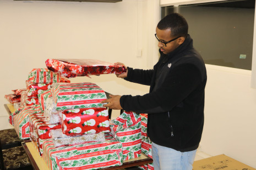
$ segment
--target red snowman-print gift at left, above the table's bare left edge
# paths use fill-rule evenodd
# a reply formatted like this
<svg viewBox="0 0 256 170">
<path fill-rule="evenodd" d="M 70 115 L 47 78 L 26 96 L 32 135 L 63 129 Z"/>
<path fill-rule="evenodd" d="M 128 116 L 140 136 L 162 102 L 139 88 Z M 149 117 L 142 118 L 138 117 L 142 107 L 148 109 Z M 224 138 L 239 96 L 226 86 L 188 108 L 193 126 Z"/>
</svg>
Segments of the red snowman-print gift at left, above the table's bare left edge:
<svg viewBox="0 0 256 170">
<path fill-rule="evenodd" d="M 51 129 L 61 128 L 61 124 L 50 124 L 46 121 L 42 113 L 29 115 L 30 138 L 35 141 L 40 154 L 43 154 L 42 140 L 50 139 Z"/>
</svg>

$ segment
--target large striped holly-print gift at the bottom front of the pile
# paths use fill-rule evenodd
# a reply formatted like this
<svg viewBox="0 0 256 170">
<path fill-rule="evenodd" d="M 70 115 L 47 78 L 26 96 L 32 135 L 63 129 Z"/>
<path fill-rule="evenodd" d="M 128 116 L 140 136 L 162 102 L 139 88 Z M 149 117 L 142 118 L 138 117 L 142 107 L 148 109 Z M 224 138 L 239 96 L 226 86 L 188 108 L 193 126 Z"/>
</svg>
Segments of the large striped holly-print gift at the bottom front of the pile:
<svg viewBox="0 0 256 170">
<path fill-rule="evenodd" d="M 106 141 L 55 147 L 51 139 L 43 140 L 43 159 L 52 170 L 101 169 L 123 163 L 122 144 L 106 134 Z"/>
</svg>

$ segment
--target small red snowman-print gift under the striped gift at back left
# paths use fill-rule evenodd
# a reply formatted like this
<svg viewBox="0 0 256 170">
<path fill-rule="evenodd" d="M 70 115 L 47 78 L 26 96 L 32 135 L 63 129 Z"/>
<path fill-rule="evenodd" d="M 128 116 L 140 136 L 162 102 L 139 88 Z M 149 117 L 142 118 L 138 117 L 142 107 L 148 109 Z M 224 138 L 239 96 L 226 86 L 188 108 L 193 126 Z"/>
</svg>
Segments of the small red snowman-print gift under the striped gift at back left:
<svg viewBox="0 0 256 170">
<path fill-rule="evenodd" d="M 51 88 L 52 83 L 44 84 L 44 83 L 31 83 L 26 81 L 26 92 L 28 97 L 36 97 L 37 95 L 42 93 L 45 90 Z"/>
</svg>

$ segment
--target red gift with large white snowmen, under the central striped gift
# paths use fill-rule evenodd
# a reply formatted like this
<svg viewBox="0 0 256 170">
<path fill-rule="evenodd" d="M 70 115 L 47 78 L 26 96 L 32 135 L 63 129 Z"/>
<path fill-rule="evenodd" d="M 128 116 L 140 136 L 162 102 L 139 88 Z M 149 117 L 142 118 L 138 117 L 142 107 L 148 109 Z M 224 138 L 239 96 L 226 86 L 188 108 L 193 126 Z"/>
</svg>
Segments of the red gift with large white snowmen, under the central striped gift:
<svg viewBox="0 0 256 170">
<path fill-rule="evenodd" d="M 105 107 L 65 110 L 62 132 L 66 135 L 110 132 L 108 111 Z"/>
</svg>

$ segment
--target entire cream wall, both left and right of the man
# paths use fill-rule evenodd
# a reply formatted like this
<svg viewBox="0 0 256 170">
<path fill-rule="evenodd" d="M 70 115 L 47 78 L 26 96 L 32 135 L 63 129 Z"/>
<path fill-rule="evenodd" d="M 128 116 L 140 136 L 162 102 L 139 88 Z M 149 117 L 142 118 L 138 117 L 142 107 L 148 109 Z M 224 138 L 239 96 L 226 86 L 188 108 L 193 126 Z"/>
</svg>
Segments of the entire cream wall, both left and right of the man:
<svg viewBox="0 0 256 170">
<path fill-rule="evenodd" d="M 95 58 L 144 69 L 157 60 L 154 31 L 159 20 L 158 0 L 0 0 L 0 20 L 0 129 L 9 128 L 4 94 L 24 88 L 28 72 L 45 67 L 48 58 Z M 206 67 L 205 127 L 200 150 L 210 155 L 226 154 L 256 168 L 256 90 L 250 88 L 251 71 Z M 125 82 L 115 75 L 72 79 L 85 81 L 95 82 L 113 94 L 148 92 L 148 87 Z"/>
</svg>

